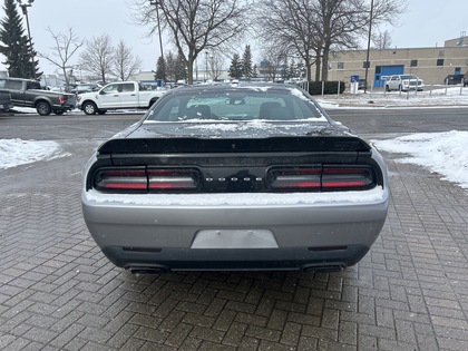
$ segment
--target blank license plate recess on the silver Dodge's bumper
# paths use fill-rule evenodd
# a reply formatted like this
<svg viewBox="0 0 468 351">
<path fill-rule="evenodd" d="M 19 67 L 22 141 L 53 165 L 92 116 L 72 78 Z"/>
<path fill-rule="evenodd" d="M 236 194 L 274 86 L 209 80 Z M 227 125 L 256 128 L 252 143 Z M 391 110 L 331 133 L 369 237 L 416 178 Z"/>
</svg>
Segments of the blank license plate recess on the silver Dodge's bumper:
<svg viewBox="0 0 468 351">
<path fill-rule="evenodd" d="M 202 230 L 191 248 L 277 248 L 269 230 Z"/>
</svg>

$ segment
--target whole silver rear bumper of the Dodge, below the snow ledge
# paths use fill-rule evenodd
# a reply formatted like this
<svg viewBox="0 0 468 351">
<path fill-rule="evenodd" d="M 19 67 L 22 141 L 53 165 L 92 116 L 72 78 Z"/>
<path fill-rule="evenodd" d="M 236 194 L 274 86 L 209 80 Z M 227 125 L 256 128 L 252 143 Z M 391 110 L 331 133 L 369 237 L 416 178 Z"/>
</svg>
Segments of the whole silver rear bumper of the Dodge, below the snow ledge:
<svg viewBox="0 0 468 351">
<path fill-rule="evenodd" d="M 138 270 L 344 267 L 368 252 L 387 209 L 387 191 L 381 198 L 363 203 L 256 206 L 156 206 L 96 202 L 82 195 L 86 224 L 103 252 L 117 266 Z M 216 240 L 194 244 L 201 233 L 213 231 L 245 236 L 265 231 L 274 243 L 262 246 L 261 242 L 253 248 L 228 237 L 225 246 Z"/>
</svg>

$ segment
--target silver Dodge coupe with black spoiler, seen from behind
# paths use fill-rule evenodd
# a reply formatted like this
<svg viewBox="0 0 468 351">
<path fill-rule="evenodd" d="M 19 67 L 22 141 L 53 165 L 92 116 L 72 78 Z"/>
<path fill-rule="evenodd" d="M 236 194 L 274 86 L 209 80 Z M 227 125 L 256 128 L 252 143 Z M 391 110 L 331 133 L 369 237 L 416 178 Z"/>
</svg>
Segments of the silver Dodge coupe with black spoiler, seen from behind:
<svg viewBox="0 0 468 351">
<path fill-rule="evenodd" d="M 134 273 L 337 271 L 386 221 L 380 154 L 292 86 L 169 90 L 84 169 L 94 240 Z"/>
</svg>

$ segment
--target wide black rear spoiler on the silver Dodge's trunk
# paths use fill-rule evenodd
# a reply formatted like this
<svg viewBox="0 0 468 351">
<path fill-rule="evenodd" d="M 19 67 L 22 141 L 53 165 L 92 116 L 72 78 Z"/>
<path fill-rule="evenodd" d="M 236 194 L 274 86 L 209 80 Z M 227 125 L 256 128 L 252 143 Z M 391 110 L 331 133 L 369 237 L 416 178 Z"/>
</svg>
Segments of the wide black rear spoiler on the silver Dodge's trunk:
<svg viewBox="0 0 468 351">
<path fill-rule="evenodd" d="M 129 138 L 110 139 L 98 153 L 105 154 L 195 154 L 195 153 L 289 153 L 370 152 L 355 136 L 294 136 L 269 138 Z"/>
</svg>

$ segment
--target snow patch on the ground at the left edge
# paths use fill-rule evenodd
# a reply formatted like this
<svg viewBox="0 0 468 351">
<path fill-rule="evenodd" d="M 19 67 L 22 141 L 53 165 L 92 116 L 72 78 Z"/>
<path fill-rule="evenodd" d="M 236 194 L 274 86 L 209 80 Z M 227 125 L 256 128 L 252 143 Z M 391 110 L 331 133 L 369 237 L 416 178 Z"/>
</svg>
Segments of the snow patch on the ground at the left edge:
<svg viewBox="0 0 468 351">
<path fill-rule="evenodd" d="M 69 155 L 55 142 L 0 139 L 0 169 Z"/>
</svg>

